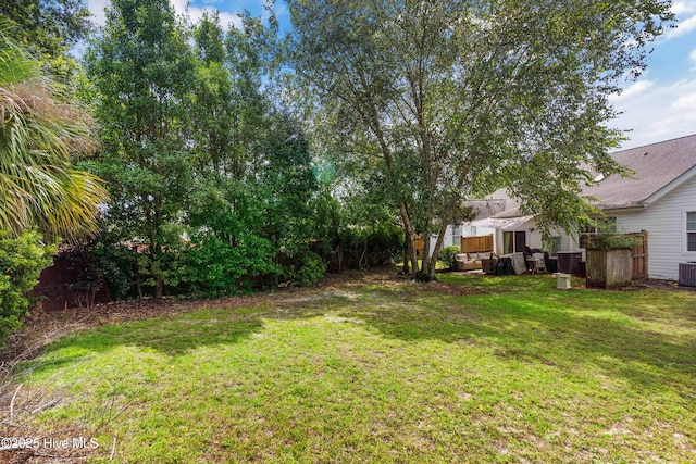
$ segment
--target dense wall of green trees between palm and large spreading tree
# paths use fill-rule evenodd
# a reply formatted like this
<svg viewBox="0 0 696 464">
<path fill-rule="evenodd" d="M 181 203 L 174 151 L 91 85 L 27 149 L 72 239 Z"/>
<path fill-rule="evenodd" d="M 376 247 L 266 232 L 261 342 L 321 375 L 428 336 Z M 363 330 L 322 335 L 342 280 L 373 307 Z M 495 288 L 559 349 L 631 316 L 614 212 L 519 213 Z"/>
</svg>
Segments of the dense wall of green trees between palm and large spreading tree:
<svg viewBox="0 0 696 464">
<path fill-rule="evenodd" d="M 312 240 L 309 142 L 265 91 L 277 24 L 190 26 L 166 0 L 115 1 L 88 52 L 103 148 L 88 164 L 112 189 L 100 253 L 121 294 L 260 286 Z"/>
</svg>

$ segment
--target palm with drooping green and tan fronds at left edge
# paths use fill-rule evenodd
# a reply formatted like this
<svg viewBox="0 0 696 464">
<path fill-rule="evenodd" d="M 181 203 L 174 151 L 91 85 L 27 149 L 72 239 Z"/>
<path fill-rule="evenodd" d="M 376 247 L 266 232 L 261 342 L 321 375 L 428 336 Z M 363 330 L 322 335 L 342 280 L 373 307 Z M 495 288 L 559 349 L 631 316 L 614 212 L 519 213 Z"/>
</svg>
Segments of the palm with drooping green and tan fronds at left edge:
<svg viewBox="0 0 696 464">
<path fill-rule="evenodd" d="M 75 239 L 97 228 L 101 180 L 72 156 L 94 148 L 89 117 L 0 27 L 0 227 Z"/>
</svg>

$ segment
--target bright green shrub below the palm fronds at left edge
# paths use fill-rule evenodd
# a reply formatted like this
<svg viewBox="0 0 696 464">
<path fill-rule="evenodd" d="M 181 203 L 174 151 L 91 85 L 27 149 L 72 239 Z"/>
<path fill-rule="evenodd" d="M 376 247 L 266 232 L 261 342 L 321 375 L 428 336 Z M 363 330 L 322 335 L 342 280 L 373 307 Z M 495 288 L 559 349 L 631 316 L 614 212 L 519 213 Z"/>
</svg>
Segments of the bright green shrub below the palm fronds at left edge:
<svg viewBox="0 0 696 464">
<path fill-rule="evenodd" d="M 49 264 L 54 247 L 46 247 L 40 234 L 29 230 L 13 238 L 0 230 L 0 340 L 16 330 L 28 314 L 28 293 Z"/>
</svg>

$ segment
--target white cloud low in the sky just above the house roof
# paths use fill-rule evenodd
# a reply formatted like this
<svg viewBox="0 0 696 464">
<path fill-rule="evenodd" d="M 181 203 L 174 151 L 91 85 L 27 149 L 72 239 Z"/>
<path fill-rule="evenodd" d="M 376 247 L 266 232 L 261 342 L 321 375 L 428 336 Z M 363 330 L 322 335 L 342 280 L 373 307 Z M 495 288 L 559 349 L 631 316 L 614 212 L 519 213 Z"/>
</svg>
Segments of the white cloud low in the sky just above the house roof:
<svg viewBox="0 0 696 464">
<path fill-rule="evenodd" d="M 632 88 L 630 98 L 614 99 L 617 110 L 623 112 L 611 126 L 632 131 L 623 148 L 639 147 L 696 133 L 696 78 L 674 83 L 651 83 Z M 631 89 L 631 87 L 630 87 Z"/>
</svg>

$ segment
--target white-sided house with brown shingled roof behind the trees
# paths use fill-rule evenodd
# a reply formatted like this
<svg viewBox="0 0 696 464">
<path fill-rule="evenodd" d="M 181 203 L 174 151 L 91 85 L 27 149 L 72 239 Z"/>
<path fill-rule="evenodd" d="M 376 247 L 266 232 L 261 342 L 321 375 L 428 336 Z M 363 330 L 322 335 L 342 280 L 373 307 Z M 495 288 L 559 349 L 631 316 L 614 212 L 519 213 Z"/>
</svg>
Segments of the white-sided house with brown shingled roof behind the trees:
<svg viewBox="0 0 696 464">
<path fill-rule="evenodd" d="M 696 261 L 696 135 L 618 151 L 612 156 L 634 174 L 598 177 L 584 195 L 597 199 L 596 206 L 616 223 L 617 230 L 648 233 L 650 278 L 676 280 L 679 263 Z M 519 203 L 505 189 L 485 200 L 500 211 L 469 226 L 494 228 L 497 253 L 521 251 L 525 246 L 543 248 L 534 216 L 522 215 Z M 551 254 L 584 253 L 576 237 L 564 231 L 552 235 Z"/>
</svg>

